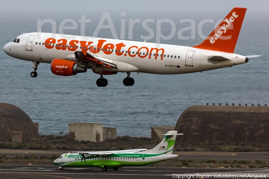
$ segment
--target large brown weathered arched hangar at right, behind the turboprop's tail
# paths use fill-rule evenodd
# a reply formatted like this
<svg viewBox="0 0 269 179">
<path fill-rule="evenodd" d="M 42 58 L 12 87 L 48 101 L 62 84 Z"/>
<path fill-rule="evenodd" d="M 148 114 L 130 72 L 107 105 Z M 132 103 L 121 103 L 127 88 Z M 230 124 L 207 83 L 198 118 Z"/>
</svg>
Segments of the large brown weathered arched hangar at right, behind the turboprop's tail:
<svg viewBox="0 0 269 179">
<path fill-rule="evenodd" d="M 175 126 L 180 142 L 216 141 L 269 144 L 269 107 L 194 105 L 182 112 Z"/>
</svg>

